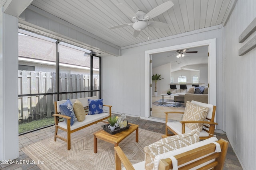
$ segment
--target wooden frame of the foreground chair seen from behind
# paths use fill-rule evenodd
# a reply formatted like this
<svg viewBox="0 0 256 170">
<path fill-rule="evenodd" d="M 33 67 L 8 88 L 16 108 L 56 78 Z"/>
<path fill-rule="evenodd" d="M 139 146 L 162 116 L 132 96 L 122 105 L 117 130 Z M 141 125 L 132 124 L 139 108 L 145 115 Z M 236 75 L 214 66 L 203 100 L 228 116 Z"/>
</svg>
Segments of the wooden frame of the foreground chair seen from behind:
<svg viewBox="0 0 256 170">
<path fill-rule="evenodd" d="M 216 143 L 220 144 L 221 152 L 214 152 L 216 145 L 214 143 L 210 143 L 208 145 L 197 147 L 196 149 L 191 149 L 181 154 L 175 155 L 174 158 L 178 160 L 178 166 L 182 165 L 182 167 L 179 167 L 179 169 L 190 169 L 204 164 L 200 170 L 208 170 L 210 168 L 222 170 L 228 150 L 228 141 L 220 139 L 219 141 L 216 141 Z M 114 147 L 114 149 L 116 170 L 121 170 L 121 164 L 124 165 L 126 170 L 135 170 L 122 149 L 120 147 Z M 212 159 L 215 159 L 215 161 L 210 163 L 207 162 Z M 186 164 L 187 162 L 188 164 Z M 160 160 L 158 170 L 170 170 L 172 168 L 172 160 L 170 158 Z"/>
</svg>

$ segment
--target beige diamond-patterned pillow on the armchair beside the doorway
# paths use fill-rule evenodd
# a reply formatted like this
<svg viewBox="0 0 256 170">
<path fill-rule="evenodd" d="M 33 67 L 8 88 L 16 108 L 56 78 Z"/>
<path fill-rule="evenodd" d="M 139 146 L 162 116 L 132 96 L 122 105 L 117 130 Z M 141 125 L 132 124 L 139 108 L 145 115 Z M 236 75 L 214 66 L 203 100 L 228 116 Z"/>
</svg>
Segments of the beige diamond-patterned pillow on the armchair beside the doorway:
<svg viewBox="0 0 256 170">
<path fill-rule="evenodd" d="M 198 106 L 196 104 L 192 104 L 191 102 L 187 101 L 182 120 L 183 121 L 204 121 L 207 116 L 208 110 L 209 110 L 209 107 Z M 202 131 L 204 124 L 203 123 L 186 123 L 185 125 L 191 130 L 199 128 L 199 131 Z"/>
</svg>

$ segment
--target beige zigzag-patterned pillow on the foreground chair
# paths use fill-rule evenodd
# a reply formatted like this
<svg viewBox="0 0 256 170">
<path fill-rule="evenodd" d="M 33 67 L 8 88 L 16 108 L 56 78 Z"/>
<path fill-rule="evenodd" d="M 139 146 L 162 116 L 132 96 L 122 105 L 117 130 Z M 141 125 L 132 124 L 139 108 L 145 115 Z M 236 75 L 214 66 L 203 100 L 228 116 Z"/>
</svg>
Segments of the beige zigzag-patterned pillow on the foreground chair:
<svg viewBox="0 0 256 170">
<path fill-rule="evenodd" d="M 190 133 L 166 137 L 144 147 L 146 170 L 152 170 L 154 168 L 154 159 L 157 155 L 186 147 L 197 142 L 199 142 L 199 131 L 198 129 L 194 129 Z"/>
</svg>

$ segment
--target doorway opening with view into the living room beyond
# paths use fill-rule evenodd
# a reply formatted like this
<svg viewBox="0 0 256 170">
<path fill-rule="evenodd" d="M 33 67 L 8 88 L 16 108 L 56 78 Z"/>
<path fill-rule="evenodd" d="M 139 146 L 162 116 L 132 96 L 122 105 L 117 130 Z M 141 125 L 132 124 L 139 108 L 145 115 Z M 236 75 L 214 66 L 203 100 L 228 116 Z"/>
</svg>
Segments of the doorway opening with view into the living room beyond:
<svg viewBox="0 0 256 170">
<path fill-rule="evenodd" d="M 165 119 L 165 111 L 184 111 L 185 93 L 191 93 L 192 86 L 208 86 L 208 46 L 153 54 L 152 74 L 161 75 L 163 79 L 157 81 L 158 94 L 152 95 L 151 116 Z M 154 82 L 152 88 L 154 91 Z M 207 103 L 208 96 L 204 96 L 204 100 Z M 181 116 L 172 114 L 171 118 L 180 121 Z"/>
</svg>

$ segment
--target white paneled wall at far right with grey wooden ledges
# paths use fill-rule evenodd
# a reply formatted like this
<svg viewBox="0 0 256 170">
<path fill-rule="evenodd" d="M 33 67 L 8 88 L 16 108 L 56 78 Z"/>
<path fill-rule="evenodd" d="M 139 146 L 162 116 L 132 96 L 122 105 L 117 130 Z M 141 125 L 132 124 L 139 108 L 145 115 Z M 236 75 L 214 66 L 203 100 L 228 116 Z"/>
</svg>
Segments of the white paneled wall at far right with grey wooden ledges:
<svg viewBox="0 0 256 170">
<path fill-rule="evenodd" d="M 224 27 L 224 104 L 226 134 L 244 170 L 256 167 L 256 49 L 243 56 L 238 50 L 245 45 L 239 35 L 256 17 L 255 0 L 238 0 Z"/>
</svg>

